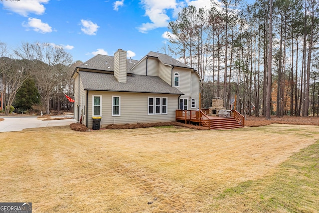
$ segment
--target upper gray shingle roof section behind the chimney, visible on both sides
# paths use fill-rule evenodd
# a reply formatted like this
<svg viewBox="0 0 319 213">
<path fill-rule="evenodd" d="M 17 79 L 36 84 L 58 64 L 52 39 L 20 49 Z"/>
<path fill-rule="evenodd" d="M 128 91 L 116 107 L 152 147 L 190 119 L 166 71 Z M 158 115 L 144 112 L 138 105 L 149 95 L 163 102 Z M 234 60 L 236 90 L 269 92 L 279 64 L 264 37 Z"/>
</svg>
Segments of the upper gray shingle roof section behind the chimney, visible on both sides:
<svg viewBox="0 0 319 213">
<path fill-rule="evenodd" d="M 139 61 L 137 60 L 126 59 L 127 73 L 133 73 L 131 72 L 131 68 L 138 62 Z M 78 68 L 114 71 L 114 56 L 96 55 L 93 58 L 81 64 L 80 66 L 78 66 Z"/>
</svg>

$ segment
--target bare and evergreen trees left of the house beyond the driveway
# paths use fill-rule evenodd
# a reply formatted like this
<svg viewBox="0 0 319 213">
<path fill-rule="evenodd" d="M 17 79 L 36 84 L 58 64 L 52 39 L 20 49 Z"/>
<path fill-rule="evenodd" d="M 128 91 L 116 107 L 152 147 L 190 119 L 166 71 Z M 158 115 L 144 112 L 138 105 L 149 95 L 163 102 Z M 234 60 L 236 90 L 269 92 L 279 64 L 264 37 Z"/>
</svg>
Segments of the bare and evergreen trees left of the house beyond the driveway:
<svg viewBox="0 0 319 213">
<path fill-rule="evenodd" d="M 0 42 L 0 90 L 6 115 L 11 105 L 28 110 L 40 103 L 39 109 L 49 114 L 55 102 L 57 109 L 65 103 L 64 93 L 73 97 L 71 74 L 79 62 L 72 64 L 72 56 L 63 47 L 25 42 L 13 50 L 14 56 L 10 52 Z"/>
</svg>

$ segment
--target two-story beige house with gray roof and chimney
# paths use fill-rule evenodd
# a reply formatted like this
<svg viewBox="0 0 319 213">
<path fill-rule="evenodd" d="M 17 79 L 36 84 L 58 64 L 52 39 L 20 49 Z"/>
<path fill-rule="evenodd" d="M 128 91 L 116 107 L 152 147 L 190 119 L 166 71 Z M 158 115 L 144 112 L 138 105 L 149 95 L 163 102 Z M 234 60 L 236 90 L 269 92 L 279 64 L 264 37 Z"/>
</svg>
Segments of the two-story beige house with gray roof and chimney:
<svg viewBox="0 0 319 213">
<path fill-rule="evenodd" d="M 91 128 L 109 124 L 175 121 L 175 110 L 199 108 L 200 76 L 193 68 L 158 52 L 141 60 L 96 55 L 76 67 L 74 117 Z"/>
</svg>

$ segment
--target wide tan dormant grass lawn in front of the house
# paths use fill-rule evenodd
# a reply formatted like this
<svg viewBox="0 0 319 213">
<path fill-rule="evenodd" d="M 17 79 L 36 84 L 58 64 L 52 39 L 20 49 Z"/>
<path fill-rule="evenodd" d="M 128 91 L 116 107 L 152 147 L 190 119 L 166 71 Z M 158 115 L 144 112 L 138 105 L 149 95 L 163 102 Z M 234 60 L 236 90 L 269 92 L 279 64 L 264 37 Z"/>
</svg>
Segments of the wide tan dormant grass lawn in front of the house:
<svg viewBox="0 0 319 213">
<path fill-rule="evenodd" d="M 319 212 L 319 126 L 0 138 L 0 202 L 32 202 L 34 213 Z"/>
</svg>

